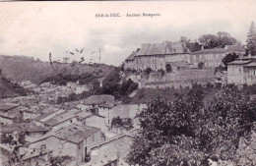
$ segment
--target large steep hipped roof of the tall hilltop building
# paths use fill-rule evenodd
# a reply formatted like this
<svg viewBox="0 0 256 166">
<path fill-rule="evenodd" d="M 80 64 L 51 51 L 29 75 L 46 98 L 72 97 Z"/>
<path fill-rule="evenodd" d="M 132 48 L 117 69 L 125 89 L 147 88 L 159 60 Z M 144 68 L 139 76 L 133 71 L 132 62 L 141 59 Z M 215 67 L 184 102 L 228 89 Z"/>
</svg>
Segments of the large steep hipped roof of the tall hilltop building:
<svg viewBox="0 0 256 166">
<path fill-rule="evenodd" d="M 162 43 L 148 43 L 142 44 L 141 49 L 135 56 L 143 55 L 169 55 L 169 54 L 183 54 L 190 53 L 182 42 L 162 42 Z"/>
</svg>

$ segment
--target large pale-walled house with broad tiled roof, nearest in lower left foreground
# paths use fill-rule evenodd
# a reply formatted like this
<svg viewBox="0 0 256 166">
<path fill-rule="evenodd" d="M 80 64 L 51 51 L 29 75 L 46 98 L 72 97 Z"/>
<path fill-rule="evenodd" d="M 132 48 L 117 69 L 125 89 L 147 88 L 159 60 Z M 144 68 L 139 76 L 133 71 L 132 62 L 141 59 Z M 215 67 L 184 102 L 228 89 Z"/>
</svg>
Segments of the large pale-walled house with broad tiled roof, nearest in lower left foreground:
<svg viewBox="0 0 256 166">
<path fill-rule="evenodd" d="M 76 164 L 88 162 L 92 147 L 105 140 L 100 129 L 70 125 L 29 143 L 30 148 L 53 150 L 52 156 L 75 157 Z"/>
</svg>

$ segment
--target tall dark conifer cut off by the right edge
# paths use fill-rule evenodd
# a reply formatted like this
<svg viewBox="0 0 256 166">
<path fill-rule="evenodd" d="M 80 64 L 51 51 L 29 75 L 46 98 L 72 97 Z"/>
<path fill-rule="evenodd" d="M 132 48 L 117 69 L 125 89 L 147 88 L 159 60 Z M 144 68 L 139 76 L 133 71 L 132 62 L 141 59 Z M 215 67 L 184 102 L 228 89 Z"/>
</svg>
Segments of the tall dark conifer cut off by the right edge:
<svg viewBox="0 0 256 166">
<path fill-rule="evenodd" d="M 249 53 L 256 55 L 256 28 L 254 22 L 251 23 L 246 40 L 246 55 Z"/>
</svg>

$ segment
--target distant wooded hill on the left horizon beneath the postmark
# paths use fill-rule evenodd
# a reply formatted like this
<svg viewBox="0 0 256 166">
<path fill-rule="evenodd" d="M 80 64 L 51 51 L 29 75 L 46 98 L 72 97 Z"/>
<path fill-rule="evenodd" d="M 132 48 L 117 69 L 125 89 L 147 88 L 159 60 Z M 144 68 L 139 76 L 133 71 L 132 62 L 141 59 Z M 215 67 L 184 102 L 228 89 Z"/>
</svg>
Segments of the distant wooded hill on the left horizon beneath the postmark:
<svg viewBox="0 0 256 166">
<path fill-rule="evenodd" d="M 76 67 L 75 70 L 74 66 Z M 61 71 L 66 70 L 69 74 L 91 74 L 94 73 L 97 77 L 103 77 L 110 73 L 114 68 L 105 64 L 64 64 L 53 63 L 52 66 L 49 62 L 42 62 L 34 60 L 32 57 L 26 56 L 5 56 L 0 55 L 0 68 L 3 71 L 4 76 L 14 82 L 32 81 L 32 83 L 41 83 L 47 78 L 57 76 Z"/>
</svg>

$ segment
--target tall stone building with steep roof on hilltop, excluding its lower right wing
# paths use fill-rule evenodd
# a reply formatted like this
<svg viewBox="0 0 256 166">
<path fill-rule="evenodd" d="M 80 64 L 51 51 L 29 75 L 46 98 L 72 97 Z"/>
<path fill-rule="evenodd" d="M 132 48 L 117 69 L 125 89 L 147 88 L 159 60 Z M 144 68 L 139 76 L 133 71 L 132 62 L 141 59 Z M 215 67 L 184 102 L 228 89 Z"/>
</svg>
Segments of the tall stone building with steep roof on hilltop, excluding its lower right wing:
<svg viewBox="0 0 256 166">
<path fill-rule="evenodd" d="M 126 60 L 125 70 L 144 71 L 151 68 L 166 71 L 173 62 L 190 62 L 190 51 L 182 42 L 148 43 L 133 52 Z"/>
</svg>

